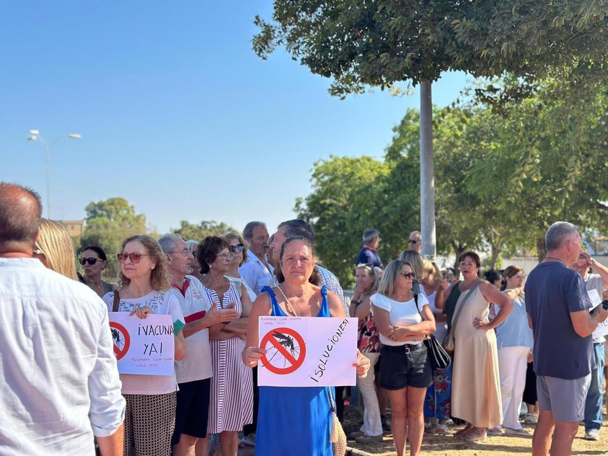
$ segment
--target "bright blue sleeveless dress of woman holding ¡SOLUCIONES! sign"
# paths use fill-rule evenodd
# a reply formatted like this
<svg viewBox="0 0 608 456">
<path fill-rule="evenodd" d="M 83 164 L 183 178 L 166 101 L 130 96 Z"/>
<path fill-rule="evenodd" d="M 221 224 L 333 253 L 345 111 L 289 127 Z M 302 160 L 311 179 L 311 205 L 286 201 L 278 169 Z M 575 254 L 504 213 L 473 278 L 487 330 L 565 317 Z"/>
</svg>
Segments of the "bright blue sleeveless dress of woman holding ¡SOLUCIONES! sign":
<svg viewBox="0 0 608 456">
<path fill-rule="evenodd" d="M 272 316 L 288 317 L 269 286 Z M 330 317 L 327 287 L 317 317 Z M 335 393 L 333 393 L 335 397 Z M 260 387 L 256 456 L 333 456 L 330 443 L 331 404 L 328 387 Z"/>
</svg>

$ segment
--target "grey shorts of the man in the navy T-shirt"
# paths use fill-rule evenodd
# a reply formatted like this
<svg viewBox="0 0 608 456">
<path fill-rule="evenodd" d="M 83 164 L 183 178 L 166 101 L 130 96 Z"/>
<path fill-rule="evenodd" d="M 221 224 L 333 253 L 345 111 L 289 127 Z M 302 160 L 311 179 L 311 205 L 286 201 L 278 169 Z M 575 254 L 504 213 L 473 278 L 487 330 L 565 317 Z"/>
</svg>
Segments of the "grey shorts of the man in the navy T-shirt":
<svg viewBox="0 0 608 456">
<path fill-rule="evenodd" d="M 585 399 L 591 373 L 574 380 L 536 376 L 536 394 L 541 410 L 551 410 L 555 421 L 580 421 L 584 418 Z"/>
</svg>

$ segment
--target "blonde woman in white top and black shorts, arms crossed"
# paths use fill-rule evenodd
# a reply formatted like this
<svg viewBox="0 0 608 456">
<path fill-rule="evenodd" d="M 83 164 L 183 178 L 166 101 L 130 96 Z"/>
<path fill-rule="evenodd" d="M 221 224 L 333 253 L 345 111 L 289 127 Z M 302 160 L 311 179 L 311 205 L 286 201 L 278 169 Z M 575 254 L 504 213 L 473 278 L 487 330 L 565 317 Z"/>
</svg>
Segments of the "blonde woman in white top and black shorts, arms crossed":
<svg viewBox="0 0 608 456">
<path fill-rule="evenodd" d="M 410 455 L 420 454 L 424 396 L 433 382 L 423 341 L 435 332 L 435 318 L 424 294 L 418 294 L 416 306 L 412 289 L 415 278 L 408 261 L 391 261 L 382 275 L 378 293 L 371 297 L 371 311 L 382 343 L 380 384 L 389 390 L 391 427 L 398 456 L 406 452 L 406 426 Z"/>
</svg>

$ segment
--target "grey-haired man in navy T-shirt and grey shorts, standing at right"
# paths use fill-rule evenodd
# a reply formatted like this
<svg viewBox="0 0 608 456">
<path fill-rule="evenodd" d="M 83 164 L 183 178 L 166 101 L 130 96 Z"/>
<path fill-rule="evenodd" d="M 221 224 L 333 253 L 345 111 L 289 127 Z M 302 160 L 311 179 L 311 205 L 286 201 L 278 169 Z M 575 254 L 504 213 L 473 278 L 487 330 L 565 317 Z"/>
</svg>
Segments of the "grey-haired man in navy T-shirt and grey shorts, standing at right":
<svg viewBox="0 0 608 456">
<path fill-rule="evenodd" d="M 534 333 L 534 371 L 539 419 L 532 438 L 533 456 L 570 455 L 583 417 L 591 370 L 591 334 L 608 311 L 592 307 L 581 274 L 567 267 L 581 252 L 572 223 L 556 222 L 545 237 L 547 258 L 530 272 L 526 309 Z M 553 441 L 551 441 L 553 435 Z"/>
</svg>

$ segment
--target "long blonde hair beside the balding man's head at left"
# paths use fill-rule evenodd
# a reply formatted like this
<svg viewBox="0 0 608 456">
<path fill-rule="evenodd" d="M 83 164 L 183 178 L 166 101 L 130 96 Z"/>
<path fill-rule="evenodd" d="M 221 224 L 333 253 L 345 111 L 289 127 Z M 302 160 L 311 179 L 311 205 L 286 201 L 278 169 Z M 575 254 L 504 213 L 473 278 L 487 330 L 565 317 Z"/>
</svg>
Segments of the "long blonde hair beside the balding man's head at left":
<svg viewBox="0 0 608 456">
<path fill-rule="evenodd" d="M 50 269 L 78 280 L 72 238 L 66 227 L 54 220 L 43 218 L 40 221 L 40 238 L 36 247 L 42 250 Z"/>
</svg>

